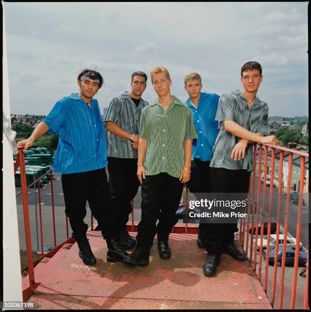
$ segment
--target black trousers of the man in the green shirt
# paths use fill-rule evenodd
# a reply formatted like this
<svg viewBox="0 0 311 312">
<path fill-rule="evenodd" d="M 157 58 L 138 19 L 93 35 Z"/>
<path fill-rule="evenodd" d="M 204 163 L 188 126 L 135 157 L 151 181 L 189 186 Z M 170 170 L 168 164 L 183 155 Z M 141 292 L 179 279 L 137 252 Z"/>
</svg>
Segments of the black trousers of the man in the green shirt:
<svg viewBox="0 0 311 312">
<path fill-rule="evenodd" d="M 156 233 L 158 241 L 168 240 L 169 233 L 178 222 L 176 211 L 183 188 L 184 184 L 168 173 L 146 175 L 141 187 L 141 221 L 138 224 L 137 247 L 150 248 Z"/>
</svg>

